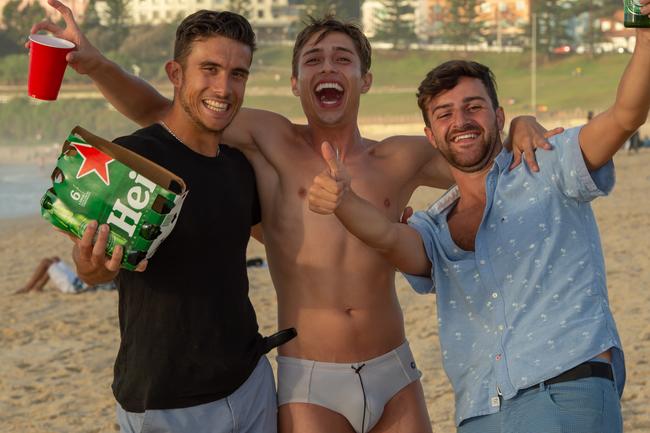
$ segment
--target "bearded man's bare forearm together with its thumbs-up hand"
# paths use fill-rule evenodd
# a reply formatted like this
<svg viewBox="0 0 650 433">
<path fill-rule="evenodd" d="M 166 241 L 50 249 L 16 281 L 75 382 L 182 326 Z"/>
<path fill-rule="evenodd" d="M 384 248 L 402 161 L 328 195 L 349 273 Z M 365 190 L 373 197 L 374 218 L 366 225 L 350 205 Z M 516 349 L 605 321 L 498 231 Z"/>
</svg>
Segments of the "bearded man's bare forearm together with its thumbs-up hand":
<svg viewBox="0 0 650 433">
<path fill-rule="evenodd" d="M 420 234 L 406 224 L 391 222 L 356 195 L 345 166 L 336 159 L 329 143 L 323 143 L 322 152 L 329 168 L 314 179 L 309 208 L 323 215 L 334 213 L 350 233 L 379 251 L 400 271 L 428 276 L 431 263 Z"/>
</svg>

